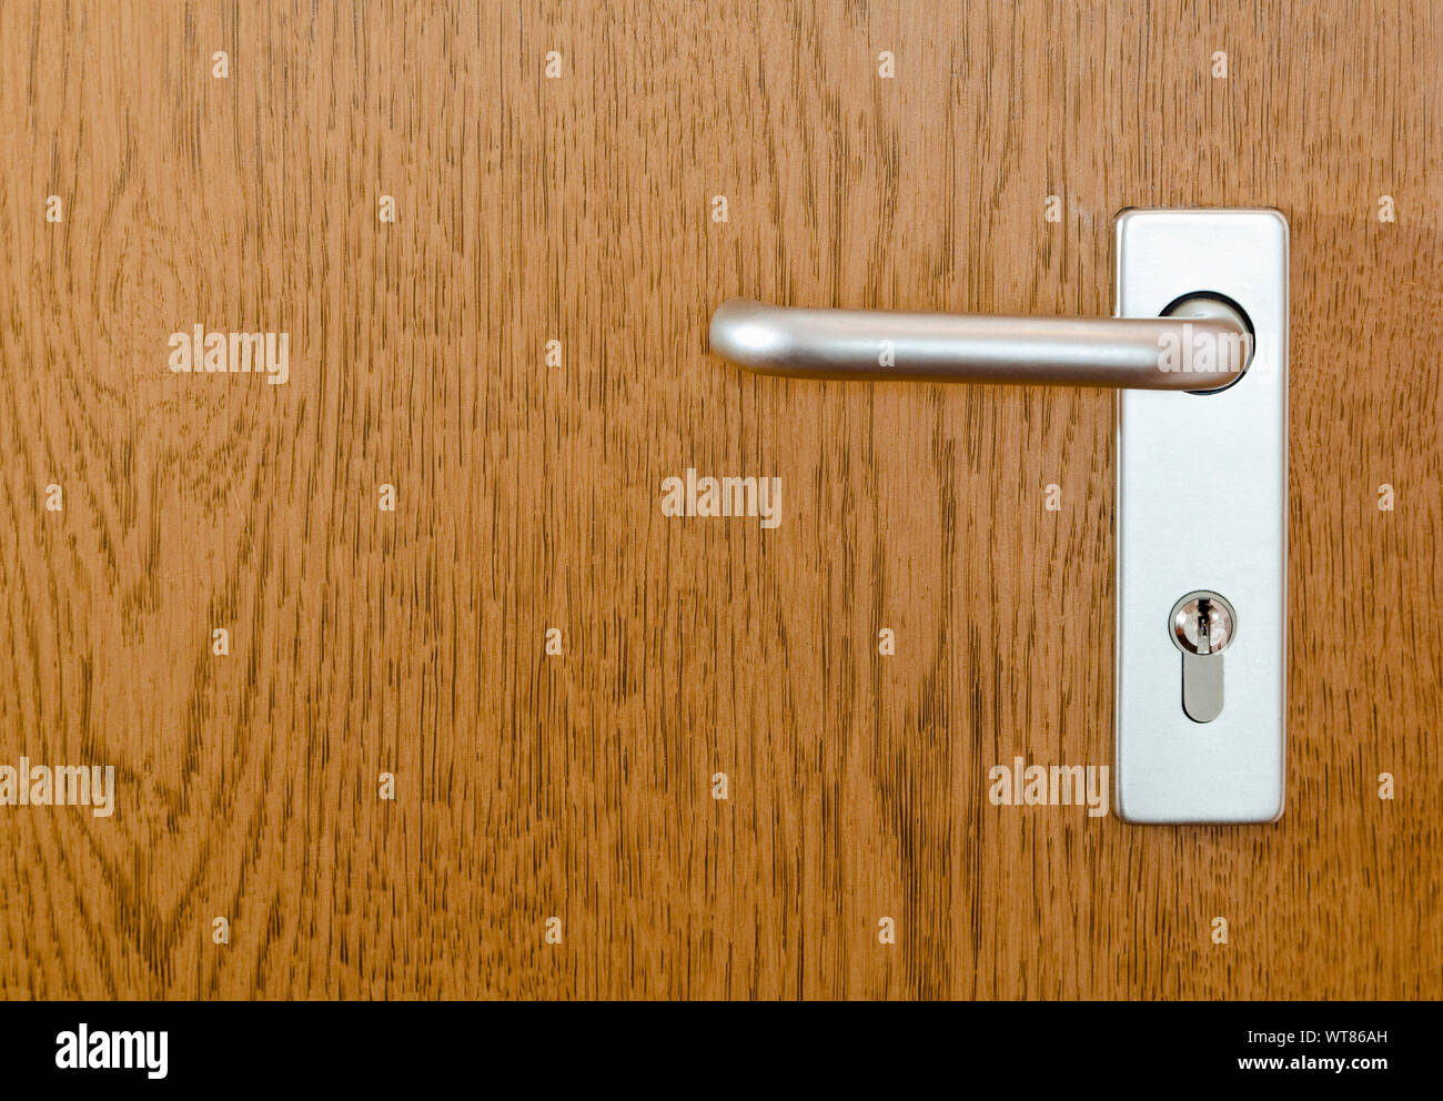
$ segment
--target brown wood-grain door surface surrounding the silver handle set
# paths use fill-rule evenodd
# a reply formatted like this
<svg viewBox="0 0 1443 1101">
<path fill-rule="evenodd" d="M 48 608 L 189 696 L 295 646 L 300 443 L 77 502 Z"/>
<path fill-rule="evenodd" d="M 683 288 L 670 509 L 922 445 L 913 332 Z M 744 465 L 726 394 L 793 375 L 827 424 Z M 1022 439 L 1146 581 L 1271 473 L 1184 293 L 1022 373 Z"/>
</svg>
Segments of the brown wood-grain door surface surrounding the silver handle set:
<svg viewBox="0 0 1443 1101">
<path fill-rule="evenodd" d="M 0 763 L 118 785 L 0 807 L 4 997 L 1443 996 L 1440 4 L 38 0 L 0 66 Z M 1114 395 L 707 319 L 1108 313 L 1177 205 L 1291 222 L 1287 814 L 996 807 L 1111 763 Z"/>
</svg>

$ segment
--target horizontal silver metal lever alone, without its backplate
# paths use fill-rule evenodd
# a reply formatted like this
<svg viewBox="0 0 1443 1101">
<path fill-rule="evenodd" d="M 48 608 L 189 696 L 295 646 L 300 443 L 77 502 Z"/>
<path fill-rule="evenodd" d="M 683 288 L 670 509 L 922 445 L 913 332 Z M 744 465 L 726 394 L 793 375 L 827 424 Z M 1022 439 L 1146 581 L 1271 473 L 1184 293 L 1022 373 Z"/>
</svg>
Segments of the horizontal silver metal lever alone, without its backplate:
<svg viewBox="0 0 1443 1101">
<path fill-rule="evenodd" d="M 1251 336 L 1237 310 L 1211 297 L 1185 299 L 1167 317 L 808 310 L 732 299 L 711 315 L 711 351 L 797 378 L 1198 391 L 1237 381 Z"/>
</svg>

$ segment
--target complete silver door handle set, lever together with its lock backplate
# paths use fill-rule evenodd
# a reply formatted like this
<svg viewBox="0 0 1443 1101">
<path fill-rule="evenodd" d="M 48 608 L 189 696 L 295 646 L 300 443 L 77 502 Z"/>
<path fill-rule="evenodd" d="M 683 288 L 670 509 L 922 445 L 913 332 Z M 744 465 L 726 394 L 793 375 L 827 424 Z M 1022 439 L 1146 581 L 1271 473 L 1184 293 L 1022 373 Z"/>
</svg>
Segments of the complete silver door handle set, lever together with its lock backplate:
<svg viewBox="0 0 1443 1101">
<path fill-rule="evenodd" d="M 801 378 L 1117 387 L 1117 814 L 1273 821 L 1286 752 L 1287 221 L 1128 209 L 1115 261 L 1115 317 L 733 299 L 711 316 L 711 349 Z"/>
</svg>

